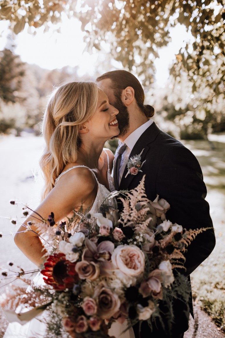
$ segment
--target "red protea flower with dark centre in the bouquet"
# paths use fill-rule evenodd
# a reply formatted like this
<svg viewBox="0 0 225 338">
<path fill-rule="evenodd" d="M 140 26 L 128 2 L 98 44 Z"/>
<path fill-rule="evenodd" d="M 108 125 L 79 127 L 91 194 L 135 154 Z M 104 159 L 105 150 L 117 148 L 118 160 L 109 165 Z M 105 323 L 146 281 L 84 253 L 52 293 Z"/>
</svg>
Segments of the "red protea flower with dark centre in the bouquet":
<svg viewBox="0 0 225 338">
<path fill-rule="evenodd" d="M 59 252 L 48 257 L 41 274 L 45 276 L 43 277 L 45 283 L 53 286 L 57 291 L 72 289 L 79 280 L 75 265 L 76 263 L 67 261 L 65 255 Z"/>
</svg>

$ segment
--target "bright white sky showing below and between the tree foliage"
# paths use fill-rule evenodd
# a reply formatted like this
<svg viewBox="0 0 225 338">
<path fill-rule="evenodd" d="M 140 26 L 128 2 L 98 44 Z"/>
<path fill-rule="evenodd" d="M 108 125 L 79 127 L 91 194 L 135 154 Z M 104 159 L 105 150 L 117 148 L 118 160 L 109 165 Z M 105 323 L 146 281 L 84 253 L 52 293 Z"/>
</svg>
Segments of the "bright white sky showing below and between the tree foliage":
<svg viewBox="0 0 225 338">
<path fill-rule="evenodd" d="M 0 32 L 3 31 L 0 35 L 0 50 L 4 49 L 6 44 L 7 26 L 7 22 L 0 21 Z M 80 22 L 77 19 L 64 17 L 60 27 L 61 33 L 52 31 L 43 33 L 44 27 L 41 27 L 36 35 L 32 35 L 27 32 L 30 27 L 26 25 L 24 31 L 15 38 L 16 54 L 20 55 L 23 62 L 37 64 L 45 69 L 79 66 L 78 75 L 88 73 L 90 77 L 94 77 L 98 54 L 90 55 L 83 52 L 84 33 L 81 31 Z M 175 54 L 191 39 L 191 34 L 186 32 L 184 26 L 177 25 L 171 30 L 171 38 L 172 41 L 168 46 L 159 50 L 160 57 L 155 63 L 156 81 L 161 87 L 164 87 L 168 79 L 168 67 L 172 64 Z M 121 68 L 120 64 L 117 64 L 118 68 Z"/>
</svg>

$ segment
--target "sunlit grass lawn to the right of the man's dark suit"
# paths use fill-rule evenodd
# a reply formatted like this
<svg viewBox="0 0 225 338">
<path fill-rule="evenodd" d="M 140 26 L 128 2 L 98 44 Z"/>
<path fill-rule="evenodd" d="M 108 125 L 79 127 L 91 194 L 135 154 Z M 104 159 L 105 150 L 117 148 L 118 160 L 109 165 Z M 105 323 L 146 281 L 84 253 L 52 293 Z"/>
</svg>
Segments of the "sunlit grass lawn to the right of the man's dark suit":
<svg viewBox="0 0 225 338">
<path fill-rule="evenodd" d="M 215 150 L 211 150 L 205 141 L 183 143 L 201 165 L 216 235 L 212 254 L 191 274 L 192 294 L 225 332 L 225 143 L 215 142 Z"/>
</svg>

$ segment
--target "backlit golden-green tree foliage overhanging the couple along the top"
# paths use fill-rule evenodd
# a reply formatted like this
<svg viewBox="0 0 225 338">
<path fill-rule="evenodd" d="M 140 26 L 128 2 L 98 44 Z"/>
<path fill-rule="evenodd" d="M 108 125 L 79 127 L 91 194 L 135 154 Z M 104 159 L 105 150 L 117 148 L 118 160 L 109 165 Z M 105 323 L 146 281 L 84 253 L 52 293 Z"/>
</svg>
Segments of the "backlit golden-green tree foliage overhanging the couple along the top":
<svg viewBox="0 0 225 338">
<path fill-rule="evenodd" d="M 86 50 L 110 46 L 111 58 L 137 74 L 148 88 L 154 81 L 158 50 L 170 41 L 170 29 L 177 23 L 185 25 L 194 43 L 180 50 L 170 70 L 173 93 L 177 90 L 179 96 L 174 106 L 178 107 L 180 101 L 189 104 L 205 135 L 210 124 L 223 121 L 220 106 L 225 100 L 224 0 L 4 0 L 0 6 L 0 19 L 9 20 L 16 34 L 26 23 L 34 27 L 33 32 L 40 26 L 45 26 L 46 31 L 52 23 L 61 21 L 63 13 L 68 18 L 78 18 L 85 32 Z M 183 78 L 190 83 L 186 101 L 180 90 Z"/>
</svg>

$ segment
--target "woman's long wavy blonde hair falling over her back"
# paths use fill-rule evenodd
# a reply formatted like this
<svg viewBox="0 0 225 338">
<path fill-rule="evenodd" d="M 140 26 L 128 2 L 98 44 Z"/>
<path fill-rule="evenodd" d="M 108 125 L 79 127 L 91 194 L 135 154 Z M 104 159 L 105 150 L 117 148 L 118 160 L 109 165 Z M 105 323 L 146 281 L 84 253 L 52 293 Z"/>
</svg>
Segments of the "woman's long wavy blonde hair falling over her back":
<svg viewBox="0 0 225 338">
<path fill-rule="evenodd" d="M 47 104 L 42 135 L 46 147 L 40 159 L 45 178 L 44 199 L 65 165 L 77 161 L 80 127 L 93 116 L 99 88 L 95 82 L 70 82 L 58 87 Z"/>
</svg>

